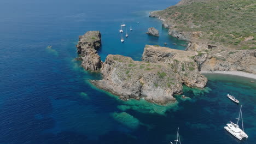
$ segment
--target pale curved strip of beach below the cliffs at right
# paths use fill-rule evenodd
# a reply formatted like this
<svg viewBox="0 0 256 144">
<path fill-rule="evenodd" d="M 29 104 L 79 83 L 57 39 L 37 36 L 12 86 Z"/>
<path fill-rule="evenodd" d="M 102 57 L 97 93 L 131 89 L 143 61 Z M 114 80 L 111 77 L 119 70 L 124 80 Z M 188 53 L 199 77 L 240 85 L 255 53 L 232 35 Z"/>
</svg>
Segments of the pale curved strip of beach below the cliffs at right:
<svg viewBox="0 0 256 144">
<path fill-rule="evenodd" d="M 243 71 L 200 71 L 200 73 L 237 75 L 237 76 L 248 77 L 248 78 L 256 80 L 256 75 L 250 74 L 250 73 L 245 73 Z"/>
</svg>

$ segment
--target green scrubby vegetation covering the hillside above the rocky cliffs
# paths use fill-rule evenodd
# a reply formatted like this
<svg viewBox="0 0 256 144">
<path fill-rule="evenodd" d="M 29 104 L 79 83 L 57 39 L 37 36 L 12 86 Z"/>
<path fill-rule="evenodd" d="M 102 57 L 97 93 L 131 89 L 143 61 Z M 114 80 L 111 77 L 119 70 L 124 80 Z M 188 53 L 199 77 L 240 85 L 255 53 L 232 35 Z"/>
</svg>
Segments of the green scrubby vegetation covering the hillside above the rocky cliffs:
<svg viewBox="0 0 256 144">
<path fill-rule="evenodd" d="M 191 0 L 193 1 L 193 0 Z M 172 6 L 158 14 L 183 32 L 236 49 L 256 49 L 256 1 L 215 0 Z"/>
</svg>

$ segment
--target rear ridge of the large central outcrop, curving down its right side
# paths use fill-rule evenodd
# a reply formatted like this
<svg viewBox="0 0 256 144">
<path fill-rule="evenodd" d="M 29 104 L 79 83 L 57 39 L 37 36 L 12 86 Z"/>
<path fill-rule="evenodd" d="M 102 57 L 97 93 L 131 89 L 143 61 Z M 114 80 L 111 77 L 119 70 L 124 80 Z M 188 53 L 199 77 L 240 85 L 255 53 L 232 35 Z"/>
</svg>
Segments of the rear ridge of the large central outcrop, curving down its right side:
<svg viewBox="0 0 256 144">
<path fill-rule="evenodd" d="M 179 79 L 189 87 L 205 87 L 207 79 L 199 73 L 196 62 L 192 59 L 197 52 L 181 51 L 168 47 L 146 45 L 142 60 L 153 63 L 170 65 L 174 73 L 179 74 Z"/>
</svg>

